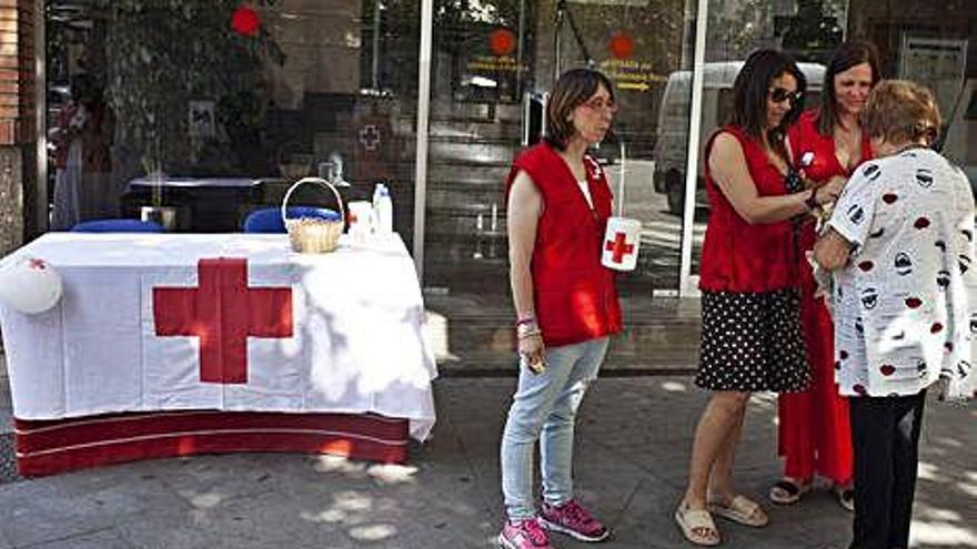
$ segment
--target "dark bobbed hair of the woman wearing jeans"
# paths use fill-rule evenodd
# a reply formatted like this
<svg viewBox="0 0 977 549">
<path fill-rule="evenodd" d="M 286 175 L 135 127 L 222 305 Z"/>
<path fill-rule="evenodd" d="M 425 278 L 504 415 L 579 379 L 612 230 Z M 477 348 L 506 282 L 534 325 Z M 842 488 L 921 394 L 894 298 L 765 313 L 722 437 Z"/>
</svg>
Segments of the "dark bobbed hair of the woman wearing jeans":
<svg viewBox="0 0 977 549">
<path fill-rule="evenodd" d="M 614 100 L 614 84 L 603 73 L 592 69 L 572 69 L 564 72 L 550 92 L 546 101 L 546 142 L 563 151 L 576 131 L 567 121 L 570 113 L 586 103 L 603 85 Z"/>
</svg>

